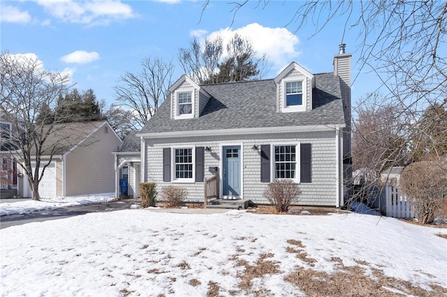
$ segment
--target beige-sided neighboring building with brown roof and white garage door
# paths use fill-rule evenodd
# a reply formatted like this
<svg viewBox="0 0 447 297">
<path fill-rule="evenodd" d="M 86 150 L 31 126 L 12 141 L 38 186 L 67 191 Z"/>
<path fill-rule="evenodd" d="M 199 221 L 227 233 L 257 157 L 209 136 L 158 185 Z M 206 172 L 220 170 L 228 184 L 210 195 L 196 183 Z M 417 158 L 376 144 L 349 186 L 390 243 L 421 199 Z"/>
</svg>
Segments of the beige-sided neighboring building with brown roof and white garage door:
<svg viewBox="0 0 447 297">
<path fill-rule="evenodd" d="M 45 151 L 55 148 L 39 183 L 39 194 L 50 198 L 114 192 L 112 151 L 121 143 L 107 121 L 58 124 L 45 142 L 41 156 L 43 167 L 50 160 L 50 154 Z M 35 156 L 31 157 L 33 159 Z M 17 176 L 17 194 L 31 197 L 28 176 L 20 166 L 17 166 Z"/>
</svg>

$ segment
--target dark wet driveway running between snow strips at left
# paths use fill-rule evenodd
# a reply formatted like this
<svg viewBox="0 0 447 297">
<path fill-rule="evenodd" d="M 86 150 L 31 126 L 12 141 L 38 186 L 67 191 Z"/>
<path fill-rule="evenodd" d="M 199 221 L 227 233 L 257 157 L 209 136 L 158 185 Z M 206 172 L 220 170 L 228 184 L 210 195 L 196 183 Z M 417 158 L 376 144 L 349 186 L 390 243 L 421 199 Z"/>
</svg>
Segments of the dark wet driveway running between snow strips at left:
<svg viewBox="0 0 447 297">
<path fill-rule="evenodd" d="M 9 199 L 1 199 L 9 200 Z M 19 199 L 13 199 L 18 201 Z M 11 201 L 6 201 L 11 202 Z M 22 215 L 3 215 L 0 217 L 0 229 L 27 224 L 30 222 L 43 222 L 46 220 L 57 220 L 70 218 L 75 215 L 85 215 L 86 213 L 104 213 L 108 211 L 121 211 L 130 209 L 132 204 L 140 205 L 140 199 L 124 199 L 122 201 L 110 201 L 101 204 L 84 204 L 79 206 L 68 206 L 64 208 L 50 209 L 45 211 L 35 211 L 34 213 L 24 213 Z"/>
</svg>

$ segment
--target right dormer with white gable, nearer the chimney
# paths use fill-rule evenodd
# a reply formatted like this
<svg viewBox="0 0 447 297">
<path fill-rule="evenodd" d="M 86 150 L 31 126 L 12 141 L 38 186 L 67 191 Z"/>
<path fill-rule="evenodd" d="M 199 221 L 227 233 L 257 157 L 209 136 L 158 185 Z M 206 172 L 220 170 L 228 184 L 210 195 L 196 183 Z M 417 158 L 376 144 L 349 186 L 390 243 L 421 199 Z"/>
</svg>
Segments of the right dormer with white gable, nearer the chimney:
<svg viewBox="0 0 447 297">
<path fill-rule="evenodd" d="M 306 112 L 312 109 L 312 73 L 295 62 L 274 79 L 277 86 L 277 112 Z"/>
</svg>

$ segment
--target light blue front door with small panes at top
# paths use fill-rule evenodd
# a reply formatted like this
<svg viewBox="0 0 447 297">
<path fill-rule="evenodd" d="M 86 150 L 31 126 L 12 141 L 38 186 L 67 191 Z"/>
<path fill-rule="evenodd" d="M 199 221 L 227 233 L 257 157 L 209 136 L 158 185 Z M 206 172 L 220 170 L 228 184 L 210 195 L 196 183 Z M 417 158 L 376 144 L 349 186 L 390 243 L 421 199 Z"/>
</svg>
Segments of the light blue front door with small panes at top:
<svg viewBox="0 0 447 297">
<path fill-rule="evenodd" d="M 223 146 L 223 199 L 240 199 L 241 158 L 240 146 Z"/>
</svg>

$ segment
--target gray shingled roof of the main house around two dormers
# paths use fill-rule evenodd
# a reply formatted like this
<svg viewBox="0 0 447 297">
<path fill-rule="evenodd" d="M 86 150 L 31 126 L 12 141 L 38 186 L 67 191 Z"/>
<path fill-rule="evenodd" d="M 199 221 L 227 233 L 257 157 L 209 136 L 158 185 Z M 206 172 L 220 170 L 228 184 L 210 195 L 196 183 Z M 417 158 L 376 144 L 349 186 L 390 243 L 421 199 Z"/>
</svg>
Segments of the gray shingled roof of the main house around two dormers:
<svg viewBox="0 0 447 297">
<path fill-rule="evenodd" d="M 314 108 L 291 113 L 277 112 L 273 79 L 202 85 L 212 98 L 198 118 L 171 119 L 170 100 L 165 100 L 139 133 L 344 124 L 339 77 L 318 74 L 315 83 Z"/>
</svg>

